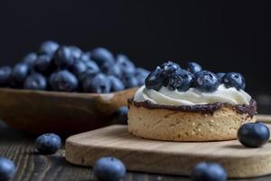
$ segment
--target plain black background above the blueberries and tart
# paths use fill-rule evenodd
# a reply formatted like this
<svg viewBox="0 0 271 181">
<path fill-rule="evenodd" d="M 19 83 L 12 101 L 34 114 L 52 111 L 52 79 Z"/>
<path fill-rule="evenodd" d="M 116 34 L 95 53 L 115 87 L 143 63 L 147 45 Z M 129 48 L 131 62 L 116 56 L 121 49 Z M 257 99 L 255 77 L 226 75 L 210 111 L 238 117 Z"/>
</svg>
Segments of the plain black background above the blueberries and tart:
<svg viewBox="0 0 271 181">
<path fill-rule="evenodd" d="M 165 60 L 240 71 L 247 90 L 271 94 L 270 1 L 5 1 L 0 60 L 14 64 L 47 39 L 105 46 L 151 69 Z"/>
</svg>

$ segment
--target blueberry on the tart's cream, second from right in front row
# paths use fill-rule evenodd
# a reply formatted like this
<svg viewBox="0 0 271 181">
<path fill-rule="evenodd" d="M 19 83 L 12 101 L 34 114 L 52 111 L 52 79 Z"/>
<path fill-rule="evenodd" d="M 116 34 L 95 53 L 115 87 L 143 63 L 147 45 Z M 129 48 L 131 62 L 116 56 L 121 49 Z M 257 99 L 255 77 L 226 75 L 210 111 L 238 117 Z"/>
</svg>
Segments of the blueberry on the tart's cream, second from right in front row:
<svg viewBox="0 0 271 181">
<path fill-rule="evenodd" d="M 199 71 L 195 74 L 194 87 L 201 91 L 212 92 L 218 90 L 220 81 L 210 71 Z"/>
</svg>

